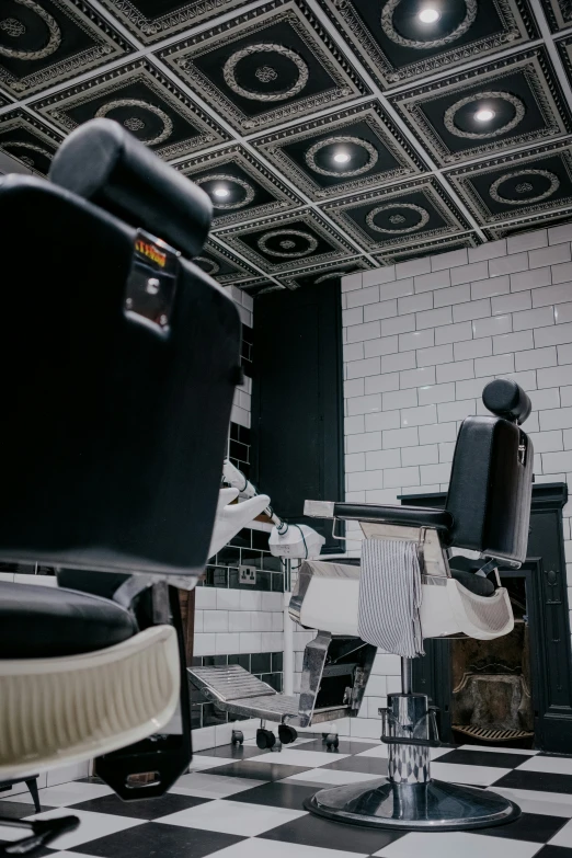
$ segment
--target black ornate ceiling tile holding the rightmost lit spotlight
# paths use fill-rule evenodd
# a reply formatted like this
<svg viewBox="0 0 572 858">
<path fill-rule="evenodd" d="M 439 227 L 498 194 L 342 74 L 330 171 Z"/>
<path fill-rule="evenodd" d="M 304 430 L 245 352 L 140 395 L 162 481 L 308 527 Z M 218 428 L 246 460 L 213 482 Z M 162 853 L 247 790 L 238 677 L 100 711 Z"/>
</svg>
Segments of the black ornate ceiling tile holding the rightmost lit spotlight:
<svg viewBox="0 0 572 858">
<path fill-rule="evenodd" d="M 571 130 L 544 48 L 408 90 L 391 102 L 441 165 L 535 145 Z M 479 121 L 479 112 L 489 112 Z"/>
</svg>

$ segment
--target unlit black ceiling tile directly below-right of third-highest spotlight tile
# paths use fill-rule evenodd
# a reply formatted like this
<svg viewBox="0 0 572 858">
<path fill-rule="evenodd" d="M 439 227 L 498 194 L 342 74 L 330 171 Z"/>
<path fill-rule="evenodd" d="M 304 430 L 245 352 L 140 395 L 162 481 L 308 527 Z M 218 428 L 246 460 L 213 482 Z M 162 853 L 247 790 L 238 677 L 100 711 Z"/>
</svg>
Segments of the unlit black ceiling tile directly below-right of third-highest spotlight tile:
<svg viewBox="0 0 572 858">
<path fill-rule="evenodd" d="M 327 211 L 365 251 L 385 251 L 469 228 L 432 176 L 334 201 Z"/>
</svg>

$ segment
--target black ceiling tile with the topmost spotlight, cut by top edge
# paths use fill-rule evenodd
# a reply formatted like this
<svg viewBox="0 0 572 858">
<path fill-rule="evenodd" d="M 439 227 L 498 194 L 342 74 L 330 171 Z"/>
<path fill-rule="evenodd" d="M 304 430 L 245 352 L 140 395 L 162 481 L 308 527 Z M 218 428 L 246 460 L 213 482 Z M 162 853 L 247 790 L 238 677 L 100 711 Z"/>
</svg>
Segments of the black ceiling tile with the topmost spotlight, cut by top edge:
<svg viewBox="0 0 572 858">
<path fill-rule="evenodd" d="M 536 37 L 522 0 L 443 0 L 431 23 L 419 18 L 417 0 L 320 0 L 336 27 L 385 89 Z M 554 0 L 556 2 L 556 0 Z"/>
</svg>

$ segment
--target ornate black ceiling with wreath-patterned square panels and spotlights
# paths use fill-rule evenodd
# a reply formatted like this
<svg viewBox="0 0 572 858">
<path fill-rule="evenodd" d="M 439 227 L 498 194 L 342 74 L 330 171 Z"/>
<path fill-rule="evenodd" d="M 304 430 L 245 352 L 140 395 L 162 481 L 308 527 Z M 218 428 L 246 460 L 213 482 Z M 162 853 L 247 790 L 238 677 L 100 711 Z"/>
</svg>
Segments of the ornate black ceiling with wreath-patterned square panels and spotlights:
<svg viewBox="0 0 572 858">
<path fill-rule="evenodd" d="M 0 0 L 2 163 L 93 116 L 201 184 L 252 295 L 572 219 L 570 0 Z M 89 169 L 89 165 L 87 165 Z"/>
</svg>

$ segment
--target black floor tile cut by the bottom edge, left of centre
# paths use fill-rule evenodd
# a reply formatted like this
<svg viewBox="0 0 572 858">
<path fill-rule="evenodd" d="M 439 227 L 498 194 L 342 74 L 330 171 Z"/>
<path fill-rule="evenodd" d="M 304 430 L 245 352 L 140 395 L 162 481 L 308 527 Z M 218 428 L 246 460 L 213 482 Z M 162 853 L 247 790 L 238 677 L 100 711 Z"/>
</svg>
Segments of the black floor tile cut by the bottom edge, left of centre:
<svg viewBox="0 0 572 858">
<path fill-rule="evenodd" d="M 243 839 L 232 834 L 148 822 L 89 840 L 77 851 L 101 858 L 205 858 Z"/>
</svg>

